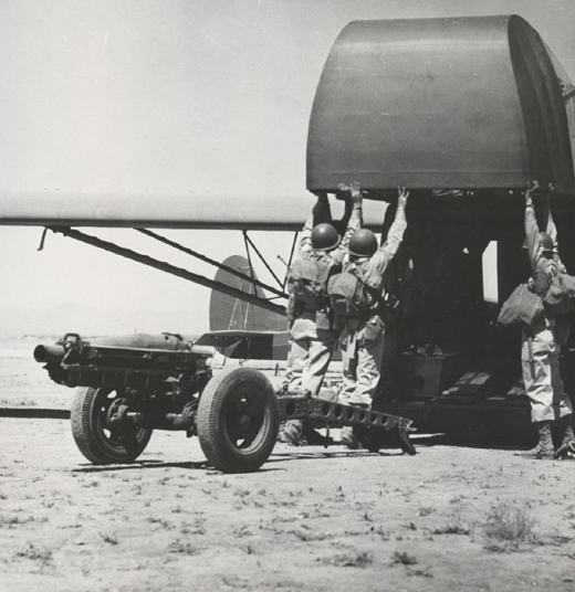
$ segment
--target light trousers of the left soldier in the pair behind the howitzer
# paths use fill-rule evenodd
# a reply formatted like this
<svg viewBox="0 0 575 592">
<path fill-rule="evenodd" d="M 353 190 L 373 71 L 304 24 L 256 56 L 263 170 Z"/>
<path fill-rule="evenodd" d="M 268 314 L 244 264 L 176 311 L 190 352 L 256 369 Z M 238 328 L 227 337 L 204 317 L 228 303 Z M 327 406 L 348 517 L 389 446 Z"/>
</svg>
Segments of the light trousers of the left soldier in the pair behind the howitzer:
<svg viewBox="0 0 575 592">
<path fill-rule="evenodd" d="M 295 319 L 284 378 L 290 391 L 320 393 L 336 339 L 333 330 L 318 329 L 310 319 Z"/>
</svg>

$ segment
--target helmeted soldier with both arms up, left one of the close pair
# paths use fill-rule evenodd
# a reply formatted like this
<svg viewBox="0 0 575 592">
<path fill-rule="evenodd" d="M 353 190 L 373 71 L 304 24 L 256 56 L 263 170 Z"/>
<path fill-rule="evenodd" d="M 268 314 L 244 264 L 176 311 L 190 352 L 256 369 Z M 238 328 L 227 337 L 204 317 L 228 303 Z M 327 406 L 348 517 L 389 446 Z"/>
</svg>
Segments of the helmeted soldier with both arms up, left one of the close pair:
<svg viewBox="0 0 575 592">
<path fill-rule="evenodd" d="M 299 260 L 288 274 L 290 352 L 284 391 L 310 392 L 312 397 L 320 393 L 338 337 L 327 298 L 327 279 L 342 269 L 349 239 L 359 229 L 362 199 L 358 195 L 346 199 L 347 228 L 343 239 L 334 226 L 337 222 L 331 223 L 326 193 L 318 194 L 303 228 Z M 302 430 L 301 421 L 291 420 L 280 433 L 280 441 L 299 444 Z"/>
</svg>

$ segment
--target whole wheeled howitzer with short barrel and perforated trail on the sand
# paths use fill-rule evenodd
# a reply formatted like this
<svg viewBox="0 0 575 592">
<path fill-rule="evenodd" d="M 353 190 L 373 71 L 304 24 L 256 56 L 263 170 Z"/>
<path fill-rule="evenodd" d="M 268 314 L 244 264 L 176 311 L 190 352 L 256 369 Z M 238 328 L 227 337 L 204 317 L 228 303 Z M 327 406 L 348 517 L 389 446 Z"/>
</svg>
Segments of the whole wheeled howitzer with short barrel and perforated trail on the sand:
<svg viewBox="0 0 575 592">
<path fill-rule="evenodd" d="M 387 432 L 415 454 L 409 420 L 304 395 L 276 397 L 255 368 L 212 371 L 213 352 L 175 334 L 91 340 L 66 334 L 53 346 L 38 346 L 34 358 L 52 380 L 77 387 L 72 433 L 94 464 L 134 462 L 153 430 L 180 430 L 199 437 L 220 471 L 257 471 L 273 451 L 280 421 L 288 419 L 357 426 L 373 452 L 386 443 Z"/>
</svg>

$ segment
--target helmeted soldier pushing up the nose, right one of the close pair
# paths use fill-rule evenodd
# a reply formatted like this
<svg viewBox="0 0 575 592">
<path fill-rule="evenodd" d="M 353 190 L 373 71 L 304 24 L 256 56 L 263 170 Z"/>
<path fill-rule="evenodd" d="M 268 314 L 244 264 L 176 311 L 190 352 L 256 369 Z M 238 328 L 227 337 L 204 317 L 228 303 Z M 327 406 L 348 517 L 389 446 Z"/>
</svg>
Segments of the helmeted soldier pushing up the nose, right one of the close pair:
<svg viewBox="0 0 575 592">
<path fill-rule="evenodd" d="M 362 199 L 358 183 L 352 184 L 351 191 L 353 199 Z M 349 258 L 344 262 L 344 272 L 356 275 L 366 286 L 370 305 L 362 316 L 342 319 L 344 383 L 338 400 L 365 409 L 372 406 L 381 373 L 385 337 L 381 310 L 384 274 L 397 253 L 407 228 L 405 208 L 409 193 L 401 187 L 398 191 L 397 211 L 387 241 L 378 247 L 377 239 L 370 230 L 358 230 L 349 240 Z M 352 427 L 342 430 L 341 443 L 349 447 L 357 445 Z"/>
</svg>

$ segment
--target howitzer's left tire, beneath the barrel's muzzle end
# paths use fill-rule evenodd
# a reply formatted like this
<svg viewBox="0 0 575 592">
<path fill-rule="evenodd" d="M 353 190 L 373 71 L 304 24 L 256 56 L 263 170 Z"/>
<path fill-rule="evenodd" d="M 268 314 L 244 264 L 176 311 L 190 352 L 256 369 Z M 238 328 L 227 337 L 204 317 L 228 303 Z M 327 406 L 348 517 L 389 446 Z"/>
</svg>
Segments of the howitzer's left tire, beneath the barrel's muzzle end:
<svg viewBox="0 0 575 592">
<path fill-rule="evenodd" d="M 109 429 L 108 410 L 121 395 L 111 389 L 83 387 L 72 403 L 72 434 L 80 452 L 95 465 L 132 463 L 148 445 L 150 429 L 121 424 Z"/>
</svg>

